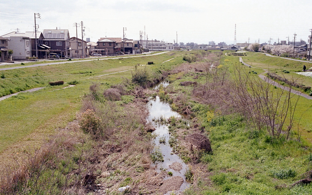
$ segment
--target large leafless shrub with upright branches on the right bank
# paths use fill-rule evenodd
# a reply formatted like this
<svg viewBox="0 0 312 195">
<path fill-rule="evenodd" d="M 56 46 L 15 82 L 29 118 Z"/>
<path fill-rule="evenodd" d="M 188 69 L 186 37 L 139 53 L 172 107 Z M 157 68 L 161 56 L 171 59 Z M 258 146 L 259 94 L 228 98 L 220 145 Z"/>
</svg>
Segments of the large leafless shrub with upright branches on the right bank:
<svg viewBox="0 0 312 195">
<path fill-rule="evenodd" d="M 288 138 L 300 97 L 291 93 L 294 81 L 288 89 L 280 89 L 273 87 L 270 81 L 267 83 L 252 77 L 249 72 L 243 71 L 241 65 L 234 68 L 233 103 L 259 130 L 266 127 L 272 137 L 285 135 Z"/>
</svg>

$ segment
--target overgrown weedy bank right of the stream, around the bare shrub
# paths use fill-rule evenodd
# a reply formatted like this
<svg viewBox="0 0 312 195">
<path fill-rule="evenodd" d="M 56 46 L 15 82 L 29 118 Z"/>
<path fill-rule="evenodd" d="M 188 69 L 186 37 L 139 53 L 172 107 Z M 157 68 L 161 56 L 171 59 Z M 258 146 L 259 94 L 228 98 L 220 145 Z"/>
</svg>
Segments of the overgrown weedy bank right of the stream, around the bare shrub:
<svg viewBox="0 0 312 195">
<path fill-rule="evenodd" d="M 222 78 L 235 78 L 233 65 L 239 64 L 238 58 L 223 56 L 217 65 L 220 69 L 215 70 L 218 73 L 211 72 L 208 82 L 202 63 L 177 67 L 172 71 L 175 74 L 167 78 L 171 84 L 159 91 L 174 110 L 190 117 L 187 126 L 183 121 L 169 121 L 173 150 L 190 165 L 186 176 L 193 185 L 184 194 L 312 193 L 311 184 L 292 185 L 309 178 L 304 173 L 312 169 L 311 123 L 309 117 L 302 117 L 311 114 L 311 100 L 299 99 L 294 118 L 295 123 L 299 119 L 300 122 L 298 127 L 293 126 L 290 138 L 273 138 L 266 128 L 255 128 L 233 105 L 230 93 L 234 91 L 229 85 L 233 81 L 228 83 L 225 79 L 220 84 Z M 206 63 L 209 65 L 209 61 Z M 260 81 L 257 74 L 252 74 L 252 70 L 261 72 L 259 69 L 241 66 L 240 70 L 251 72 L 255 82 Z M 185 86 L 185 82 L 189 84 Z M 297 128 L 301 132 L 300 141 Z M 189 148 L 186 140 L 193 133 L 206 135 L 212 151 Z"/>
</svg>

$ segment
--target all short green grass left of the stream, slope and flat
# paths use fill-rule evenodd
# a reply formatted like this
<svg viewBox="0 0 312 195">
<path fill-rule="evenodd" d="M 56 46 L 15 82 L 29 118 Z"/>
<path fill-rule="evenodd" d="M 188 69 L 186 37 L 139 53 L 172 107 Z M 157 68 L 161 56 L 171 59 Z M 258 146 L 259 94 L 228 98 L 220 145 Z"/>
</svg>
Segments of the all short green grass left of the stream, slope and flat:
<svg viewBox="0 0 312 195">
<path fill-rule="evenodd" d="M 48 81 L 56 80 L 64 80 L 65 82 L 76 80 L 79 83 L 66 89 L 61 88 L 68 84 L 47 86 L 37 92 L 21 93 L 15 97 L 0 101 L 0 116 L 2 118 L 0 123 L 0 152 L 10 148 L 13 144 L 20 145 L 21 151 L 24 150 L 24 145 L 39 147 L 42 143 L 39 140 L 45 140 L 46 136 L 53 134 L 56 128 L 65 127 L 67 122 L 74 118 L 76 111 L 80 108 L 82 96 L 89 92 L 89 86 L 92 83 L 101 83 L 100 87 L 103 90 L 110 87 L 110 85 L 123 82 L 124 79 L 131 79 L 131 71 L 91 79 L 84 78 L 133 69 L 134 64 L 145 64 L 148 61 L 154 61 L 155 63 L 153 67 L 147 66 L 149 69 L 160 72 L 182 63 L 182 57 L 179 57 L 181 54 L 177 53 L 174 56 L 178 58 L 160 64 L 174 57 L 169 54 L 170 52 L 159 56 L 77 62 L 1 71 L 7 75 L 7 79 L 0 79 L 0 85 L 4 86 L 2 90 L 16 86 L 24 87 L 27 83 L 29 88 L 47 86 Z M 92 74 L 65 75 L 79 71 L 91 71 Z M 32 77 L 37 73 L 39 77 Z M 14 74 L 19 74 L 20 77 L 16 78 Z M 124 96 L 121 102 L 130 102 L 132 99 L 133 97 Z"/>
</svg>

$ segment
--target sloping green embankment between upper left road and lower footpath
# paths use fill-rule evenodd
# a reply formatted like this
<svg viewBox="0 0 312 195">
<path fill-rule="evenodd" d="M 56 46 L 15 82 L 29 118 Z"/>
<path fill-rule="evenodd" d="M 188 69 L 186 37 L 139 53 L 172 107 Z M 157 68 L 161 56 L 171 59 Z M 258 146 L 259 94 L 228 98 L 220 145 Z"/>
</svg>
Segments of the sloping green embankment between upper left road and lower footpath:
<svg viewBox="0 0 312 195">
<path fill-rule="evenodd" d="M 25 91 L 28 89 L 46 86 L 50 81 L 62 80 L 64 82 L 80 80 L 92 76 L 108 74 L 133 69 L 136 64 L 147 64 L 154 61 L 154 66 L 166 67 L 165 63 L 160 63 L 171 59 L 169 53 L 157 56 L 142 56 L 135 58 L 121 58 L 108 60 L 95 60 L 89 62 L 77 62 L 48 65 L 43 67 L 29 67 L 14 70 L 0 71 L 5 75 L 5 79 L 0 79 L 0 97 Z M 179 56 L 176 54 L 175 56 Z M 177 61 L 176 61 L 177 62 Z M 178 61 L 177 63 L 180 63 Z M 173 64 L 174 61 L 166 64 Z"/>
</svg>

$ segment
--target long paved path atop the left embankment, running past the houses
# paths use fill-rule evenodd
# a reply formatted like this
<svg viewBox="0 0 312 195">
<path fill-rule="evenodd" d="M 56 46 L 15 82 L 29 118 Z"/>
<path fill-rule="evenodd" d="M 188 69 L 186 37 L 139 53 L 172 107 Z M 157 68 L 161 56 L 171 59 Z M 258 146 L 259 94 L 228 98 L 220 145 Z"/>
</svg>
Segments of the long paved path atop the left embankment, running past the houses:
<svg viewBox="0 0 312 195">
<path fill-rule="evenodd" d="M 160 55 L 163 53 L 167 53 L 169 51 L 161 52 L 161 53 L 154 53 L 154 54 L 148 54 L 145 56 L 153 56 L 153 55 Z M 44 63 L 44 64 L 33 64 L 28 66 L 17 66 L 17 67 L 8 67 L 8 68 L 0 68 L 0 71 L 2 70 L 13 70 L 13 69 L 19 69 L 19 68 L 29 68 L 29 67 L 38 67 L 38 66 L 47 66 L 47 65 L 54 65 L 54 64 L 66 64 L 66 63 L 75 63 L 75 62 L 89 62 L 94 60 L 108 60 L 108 59 L 120 59 L 120 58 L 135 58 L 135 57 L 142 57 L 142 55 L 139 56 L 125 56 L 125 57 L 118 57 L 118 58 L 96 58 L 91 60 L 79 60 L 79 61 L 66 61 L 66 62 L 54 62 L 54 63 Z"/>
</svg>

